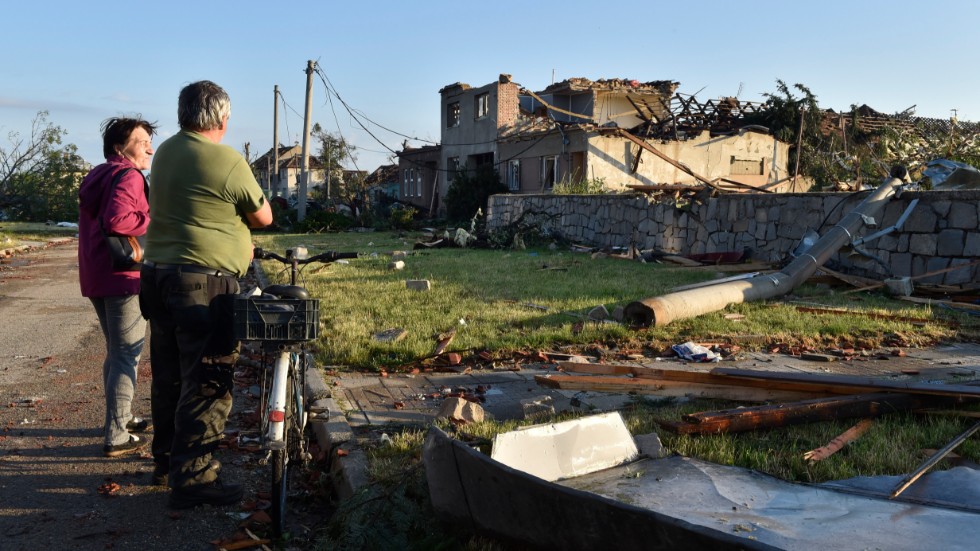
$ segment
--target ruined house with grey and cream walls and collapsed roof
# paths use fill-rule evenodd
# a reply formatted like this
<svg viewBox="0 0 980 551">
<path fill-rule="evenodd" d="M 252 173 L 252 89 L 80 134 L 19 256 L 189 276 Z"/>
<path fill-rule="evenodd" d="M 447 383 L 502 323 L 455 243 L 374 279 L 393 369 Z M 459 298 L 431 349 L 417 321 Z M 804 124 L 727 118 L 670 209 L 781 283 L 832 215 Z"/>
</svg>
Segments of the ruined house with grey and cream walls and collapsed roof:
<svg viewBox="0 0 980 551">
<path fill-rule="evenodd" d="M 399 153 L 402 200 L 437 211 L 456 171 L 487 165 L 518 194 L 580 182 L 609 191 L 700 180 L 733 190 L 791 189 L 790 144 L 765 128 L 739 125 L 758 104 L 701 104 L 676 94 L 677 87 L 572 78 L 531 92 L 506 74 L 478 88 L 446 86 L 441 145 Z"/>
</svg>

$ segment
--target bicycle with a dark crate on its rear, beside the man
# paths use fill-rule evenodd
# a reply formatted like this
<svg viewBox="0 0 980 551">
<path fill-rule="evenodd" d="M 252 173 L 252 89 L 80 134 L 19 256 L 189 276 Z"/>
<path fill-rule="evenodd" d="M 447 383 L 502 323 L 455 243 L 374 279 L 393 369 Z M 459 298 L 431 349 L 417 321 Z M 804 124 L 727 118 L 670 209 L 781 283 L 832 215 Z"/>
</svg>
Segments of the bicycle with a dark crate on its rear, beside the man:
<svg viewBox="0 0 980 551">
<path fill-rule="evenodd" d="M 254 257 L 276 260 L 288 266 L 288 285 L 269 285 L 260 294 L 235 300 L 235 338 L 262 347 L 262 379 L 259 399 L 259 434 L 262 448 L 272 463 L 272 527 L 276 536 L 285 528 L 288 465 L 309 459 L 304 432 L 306 370 L 311 362 L 307 345 L 319 335 L 319 300 L 296 284 L 300 266 L 313 262 L 329 264 L 357 253 L 328 251 L 305 258 L 305 249 L 287 249 L 286 256 L 254 250 Z M 272 356 L 273 362 L 267 361 Z M 271 369 L 270 369 L 271 367 Z"/>
</svg>

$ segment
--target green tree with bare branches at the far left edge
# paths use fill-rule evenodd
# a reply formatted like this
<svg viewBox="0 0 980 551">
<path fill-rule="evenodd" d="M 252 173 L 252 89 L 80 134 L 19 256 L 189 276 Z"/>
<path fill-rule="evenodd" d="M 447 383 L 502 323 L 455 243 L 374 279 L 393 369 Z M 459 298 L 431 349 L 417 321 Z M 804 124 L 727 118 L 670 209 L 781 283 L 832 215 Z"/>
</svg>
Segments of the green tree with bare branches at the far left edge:
<svg viewBox="0 0 980 551">
<path fill-rule="evenodd" d="M 0 209 L 27 220 L 77 220 L 78 185 L 84 161 L 72 144 L 62 145 L 67 132 L 38 111 L 29 137 L 7 135 L 0 148 Z"/>
</svg>

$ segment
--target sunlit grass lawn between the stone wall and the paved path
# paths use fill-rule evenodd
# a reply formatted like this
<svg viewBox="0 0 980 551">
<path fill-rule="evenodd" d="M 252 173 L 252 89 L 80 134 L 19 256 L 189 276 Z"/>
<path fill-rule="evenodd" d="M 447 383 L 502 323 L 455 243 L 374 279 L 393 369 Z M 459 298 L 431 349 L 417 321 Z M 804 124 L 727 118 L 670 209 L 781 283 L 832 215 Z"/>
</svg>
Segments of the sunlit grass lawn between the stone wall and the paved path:
<svg viewBox="0 0 980 551">
<path fill-rule="evenodd" d="M 690 283 L 716 279 L 711 269 L 593 258 L 567 247 L 527 250 L 412 250 L 418 234 L 336 233 L 257 234 L 259 245 L 282 251 L 299 244 L 310 254 L 356 251 L 348 264 L 309 266 L 305 285 L 321 299 L 323 336 L 318 358 L 325 365 L 353 369 L 397 369 L 432 354 L 437 336 L 455 330 L 447 351 L 514 351 L 596 347 L 621 353 L 663 353 L 686 341 L 728 342 L 745 349 L 776 345 L 813 348 L 927 346 L 955 340 L 957 330 L 929 307 L 894 301 L 883 294 L 843 295 L 826 286 L 804 285 L 781 300 L 736 304 L 725 310 L 665 327 L 635 330 L 618 323 L 593 322 L 597 306 L 617 306 L 669 292 Z M 389 268 L 390 253 L 409 253 L 405 268 Z M 268 262 L 277 281 L 286 273 Z M 424 279 L 431 290 L 406 288 L 406 280 Z M 792 301 L 792 302 L 790 302 Z M 801 303 L 854 312 L 817 315 L 798 310 Z M 726 314 L 740 314 L 737 320 Z M 866 314 L 893 316 L 875 319 Z M 903 321 L 910 318 L 925 323 Z M 404 339 L 379 342 L 375 334 L 403 329 Z"/>
</svg>

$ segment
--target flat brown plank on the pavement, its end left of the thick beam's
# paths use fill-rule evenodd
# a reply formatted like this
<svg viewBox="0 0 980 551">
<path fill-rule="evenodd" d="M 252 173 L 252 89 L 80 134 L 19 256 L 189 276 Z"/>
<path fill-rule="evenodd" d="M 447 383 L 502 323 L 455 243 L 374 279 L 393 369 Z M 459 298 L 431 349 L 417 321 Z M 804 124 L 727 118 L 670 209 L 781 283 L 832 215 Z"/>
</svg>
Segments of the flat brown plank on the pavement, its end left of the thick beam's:
<svg viewBox="0 0 980 551">
<path fill-rule="evenodd" d="M 591 390 L 665 397 L 713 398 L 736 402 L 795 401 L 812 398 L 813 393 L 768 390 L 727 385 L 706 385 L 680 381 L 630 379 L 603 375 L 536 375 L 535 382 L 562 390 Z"/>
</svg>

